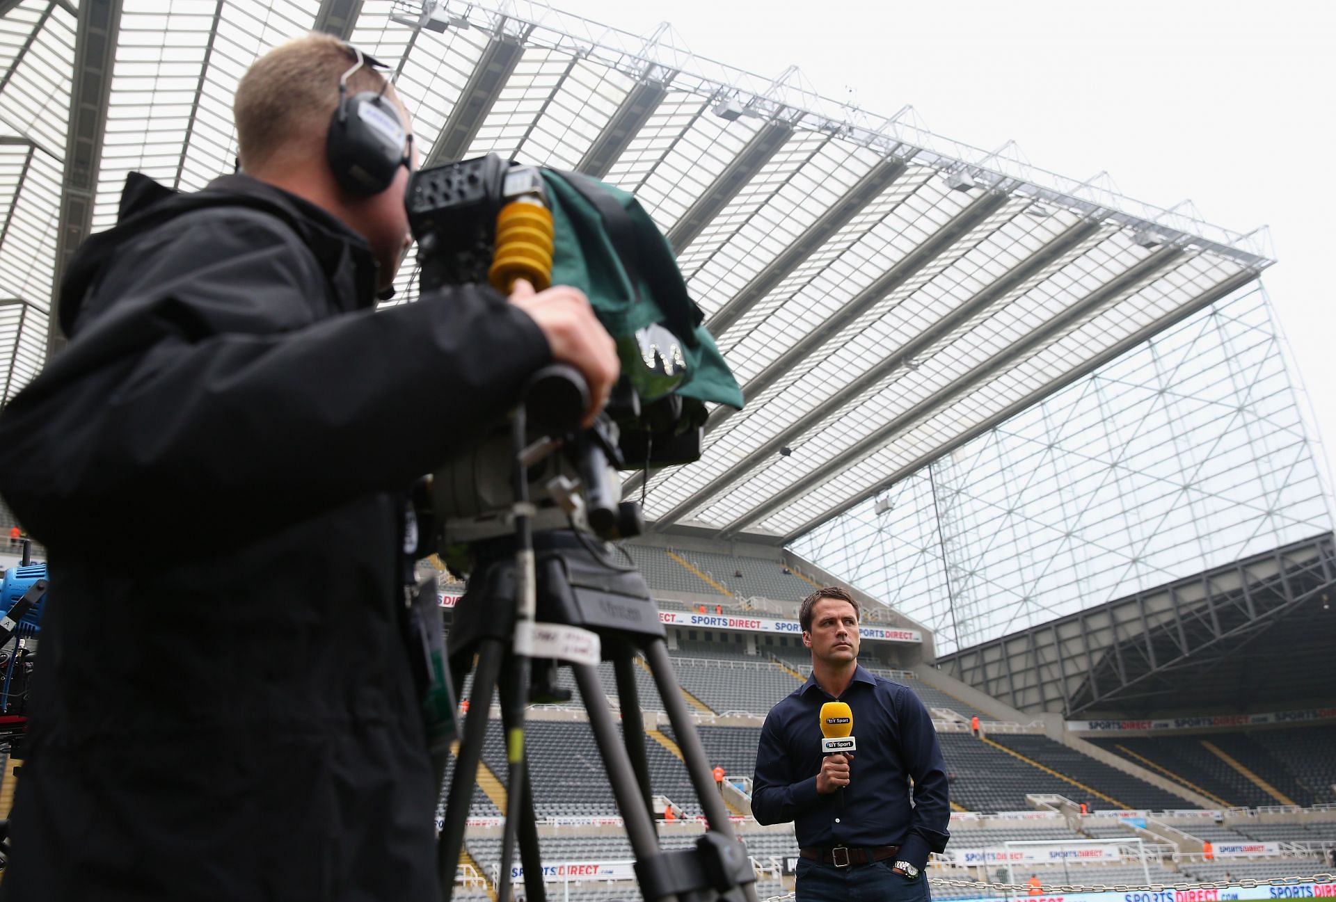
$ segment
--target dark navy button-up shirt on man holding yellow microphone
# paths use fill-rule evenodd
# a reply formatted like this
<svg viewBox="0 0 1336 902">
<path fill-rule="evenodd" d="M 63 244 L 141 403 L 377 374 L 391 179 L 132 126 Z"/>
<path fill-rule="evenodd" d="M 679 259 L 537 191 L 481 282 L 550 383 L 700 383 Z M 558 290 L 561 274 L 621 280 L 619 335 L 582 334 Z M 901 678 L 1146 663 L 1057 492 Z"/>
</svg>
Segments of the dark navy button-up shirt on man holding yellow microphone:
<svg viewBox="0 0 1336 902">
<path fill-rule="evenodd" d="M 819 795 L 820 710 L 834 701 L 854 711 L 858 749 L 850 785 Z M 923 702 L 863 667 L 839 699 L 808 676 L 762 727 L 752 814 L 760 823 L 792 821 L 803 847 L 899 845 L 899 858 L 922 870 L 929 851 L 946 847 L 951 821 L 946 762 Z"/>
</svg>

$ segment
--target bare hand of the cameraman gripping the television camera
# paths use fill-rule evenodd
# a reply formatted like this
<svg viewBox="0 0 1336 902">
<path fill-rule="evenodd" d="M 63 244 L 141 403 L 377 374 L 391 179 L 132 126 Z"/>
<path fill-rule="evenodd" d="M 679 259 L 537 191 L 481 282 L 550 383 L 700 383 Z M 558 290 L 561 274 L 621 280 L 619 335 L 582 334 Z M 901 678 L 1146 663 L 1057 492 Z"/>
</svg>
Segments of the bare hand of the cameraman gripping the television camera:
<svg viewBox="0 0 1336 902">
<path fill-rule="evenodd" d="M 617 346 L 593 315 L 593 307 L 584 292 L 569 286 L 553 286 L 534 292 L 533 286 L 518 279 L 510 292 L 510 303 L 532 316 L 542 330 L 552 348 L 552 359 L 569 363 L 589 383 L 592 406 L 585 412 L 582 426 L 592 424 L 593 418 L 608 403 L 621 364 L 617 360 Z"/>
</svg>

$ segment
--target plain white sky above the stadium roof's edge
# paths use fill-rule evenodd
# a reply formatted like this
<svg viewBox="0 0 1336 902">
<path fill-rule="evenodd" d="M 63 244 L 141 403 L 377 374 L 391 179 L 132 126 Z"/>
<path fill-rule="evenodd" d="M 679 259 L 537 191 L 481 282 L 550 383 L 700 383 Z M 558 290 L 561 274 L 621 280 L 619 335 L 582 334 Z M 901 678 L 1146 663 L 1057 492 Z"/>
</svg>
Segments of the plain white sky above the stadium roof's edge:
<svg viewBox="0 0 1336 902">
<path fill-rule="evenodd" d="M 1106 169 L 1160 207 L 1190 197 L 1217 226 L 1271 226 L 1264 284 L 1327 446 L 1336 448 L 1336 4 L 1299 0 L 556 0 L 648 35 L 663 20 L 700 56 L 891 115 L 912 104 L 974 147 Z M 1328 483 L 1329 484 L 1329 483 Z"/>
</svg>

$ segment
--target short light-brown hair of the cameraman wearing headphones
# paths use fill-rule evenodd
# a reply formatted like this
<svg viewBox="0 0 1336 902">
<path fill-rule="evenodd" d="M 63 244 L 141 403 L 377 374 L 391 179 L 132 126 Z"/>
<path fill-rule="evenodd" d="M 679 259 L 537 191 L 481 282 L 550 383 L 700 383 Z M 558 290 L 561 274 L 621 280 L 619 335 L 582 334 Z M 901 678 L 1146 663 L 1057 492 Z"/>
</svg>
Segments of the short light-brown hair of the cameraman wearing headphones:
<svg viewBox="0 0 1336 902">
<path fill-rule="evenodd" d="M 232 100 L 242 168 L 262 167 L 294 145 L 323 151 L 330 116 L 338 108 L 339 77 L 355 61 L 351 47 L 322 33 L 279 44 L 255 60 Z M 382 88 L 385 76 L 370 65 L 362 65 L 347 80 L 350 95 Z M 398 97 L 394 101 L 398 104 Z"/>
</svg>

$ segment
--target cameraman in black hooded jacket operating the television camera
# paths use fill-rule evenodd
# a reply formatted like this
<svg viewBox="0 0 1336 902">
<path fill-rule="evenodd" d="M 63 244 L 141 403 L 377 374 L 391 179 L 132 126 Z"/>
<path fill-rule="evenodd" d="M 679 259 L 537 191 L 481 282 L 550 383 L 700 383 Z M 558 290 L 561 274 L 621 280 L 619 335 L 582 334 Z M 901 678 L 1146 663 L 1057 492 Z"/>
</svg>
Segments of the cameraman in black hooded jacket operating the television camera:
<svg viewBox="0 0 1336 902">
<path fill-rule="evenodd" d="M 403 129 L 374 193 L 326 151 L 341 80 Z M 406 490 L 550 360 L 591 418 L 617 375 L 573 288 L 373 312 L 413 152 L 361 53 L 279 47 L 234 112 L 244 175 L 132 176 L 61 286 L 69 346 L 0 414 L 52 564 L 7 899 L 434 902 Z"/>
</svg>

